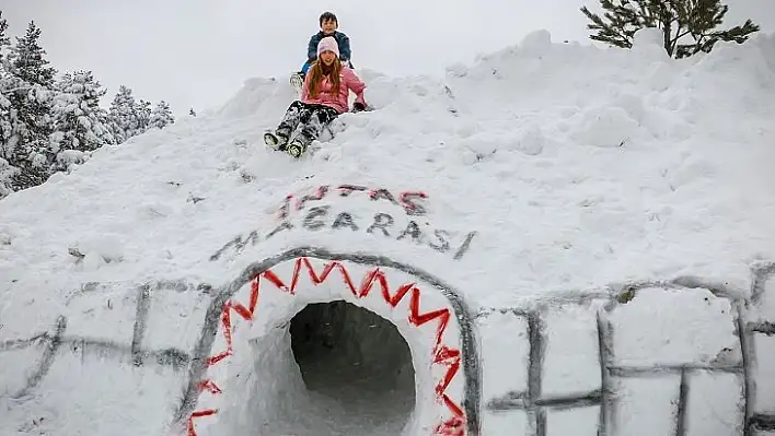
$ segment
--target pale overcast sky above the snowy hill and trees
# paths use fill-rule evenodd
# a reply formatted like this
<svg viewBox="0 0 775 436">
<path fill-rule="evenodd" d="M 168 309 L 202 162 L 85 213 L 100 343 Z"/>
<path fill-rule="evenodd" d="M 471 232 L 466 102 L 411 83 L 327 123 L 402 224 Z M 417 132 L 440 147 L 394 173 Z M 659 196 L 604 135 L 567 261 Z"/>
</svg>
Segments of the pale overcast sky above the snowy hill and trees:
<svg viewBox="0 0 775 436">
<path fill-rule="evenodd" d="M 775 32 L 775 0 L 728 2 L 734 24 Z M 189 107 L 219 106 L 245 79 L 278 76 L 304 61 L 324 10 L 350 36 L 352 63 L 388 74 L 441 74 L 447 64 L 518 44 L 545 28 L 589 43 L 582 4 L 597 0 L 0 0 L 10 35 L 34 20 L 59 71 L 88 69 L 115 94 Z"/>
</svg>

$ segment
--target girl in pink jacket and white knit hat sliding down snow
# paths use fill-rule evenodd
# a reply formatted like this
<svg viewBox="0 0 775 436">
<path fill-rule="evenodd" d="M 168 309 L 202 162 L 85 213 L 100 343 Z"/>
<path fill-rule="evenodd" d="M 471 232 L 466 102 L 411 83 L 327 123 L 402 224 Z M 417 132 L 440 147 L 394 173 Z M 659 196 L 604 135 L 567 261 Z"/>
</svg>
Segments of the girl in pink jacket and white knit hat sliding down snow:
<svg viewBox="0 0 775 436">
<path fill-rule="evenodd" d="M 366 109 L 365 89 L 355 72 L 339 61 L 336 39 L 326 36 L 317 44 L 317 60 L 304 79 L 301 101 L 291 103 L 275 132 L 264 133 L 264 142 L 293 157 L 301 156 L 334 118 L 349 110 L 350 90 L 356 93 L 354 109 Z M 289 144 L 297 129 L 300 132 Z"/>
</svg>

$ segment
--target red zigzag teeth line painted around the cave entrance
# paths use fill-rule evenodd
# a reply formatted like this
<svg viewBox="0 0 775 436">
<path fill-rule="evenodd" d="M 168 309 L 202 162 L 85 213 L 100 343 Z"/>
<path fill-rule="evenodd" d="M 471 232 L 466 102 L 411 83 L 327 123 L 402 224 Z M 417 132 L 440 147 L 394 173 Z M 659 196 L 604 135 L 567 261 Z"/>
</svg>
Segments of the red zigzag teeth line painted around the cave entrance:
<svg viewBox="0 0 775 436">
<path fill-rule="evenodd" d="M 414 283 L 407 283 L 398 286 L 396 288 L 395 293 L 391 295 L 390 292 L 390 286 L 388 285 L 388 278 L 385 276 L 385 273 L 382 272 L 379 268 L 374 268 L 373 270 L 370 270 L 369 272 L 363 275 L 363 280 L 360 283 L 359 287 L 356 287 L 352 283 L 352 280 L 350 279 L 350 274 L 347 272 L 347 268 L 339 263 L 338 261 L 331 261 L 325 264 L 323 268 L 323 271 L 317 274 L 312 267 L 312 262 L 310 261 L 309 258 L 298 258 L 296 259 L 296 263 L 293 266 L 293 275 L 291 276 L 290 281 L 290 286 L 286 285 L 286 283 L 271 270 L 266 270 L 259 275 L 256 275 L 252 281 L 251 281 L 251 297 L 250 297 L 250 303 L 247 307 L 242 305 L 241 303 L 233 302 L 233 301 L 228 301 L 227 303 L 223 304 L 223 309 L 221 311 L 221 326 L 222 326 L 222 331 L 223 331 L 223 339 L 225 341 L 227 347 L 224 351 L 212 355 L 208 362 L 208 366 L 213 366 L 218 364 L 219 362 L 223 361 L 224 358 L 231 356 L 234 351 L 232 347 L 232 322 L 231 322 L 231 311 L 235 311 L 238 315 L 240 315 L 244 320 L 246 321 L 252 321 L 255 316 L 255 308 L 258 304 L 258 296 L 259 296 L 259 281 L 261 278 L 263 276 L 267 281 L 269 281 L 271 284 L 274 284 L 278 290 L 282 292 L 287 292 L 290 295 L 296 295 L 296 288 L 299 284 L 299 278 L 301 275 L 301 269 L 302 267 L 306 268 L 308 274 L 310 276 L 310 281 L 319 285 L 323 283 L 334 270 L 339 271 L 342 274 L 342 279 L 344 281 L 344 284 L 350 290 L 354 296 L 358 298 L 362 298 L 365 296 L 368 296 L 369 293 L 371 292 L 372 287 L 375 284 L 379 284 L 379 286 L 382 288 L 382 298 L 388 303 L 391 307 L 395 308 L 398 303 L 401 303 L 406 294 L 412 292 L 412 295 L 409 297 L 409 314 L 407 320 L 409 323 L 412 323 L 415 327 L 423 326 L 427 322 L 430 322 L 435 319 L 439 320 L 439 325 L 436 329 L 436 340 L 433 343 L 433 350 L 432 350 L 432 355 L 433 364 L 440 364 L 447 366 L 447 373 L 444 374 L 444 377 L 439 380 L 439 382 L 435 387 L 436 396 L 437 399 L 440 402 L 443 402 L 447 408 L 450 410 L 452 413 L 452 417 L 449 420 L 444 421 L 443 423 L 439 424 L 435 429 L 433 433 L 437 435 L 443 435 L 443 436 L 464 436 L 465 435 L 465 419 L 464 419 L 464 412 L 463 409 L 456 404 L 452 399 L 450 399 L 446 391 L 449 385 L 452 382 L 452 379 L 454 376 L 458 374 L 460 370 L 460 365 L 461 365 L 461 353 L 460 350 L 456 349 L 450 349 L 447 345 L 442 344 L 442 337 L 444 334 L 444 331 L 447 330 L 447 326 L 449 325 L 449 320 L 451 317 L 450 310 L 448 308 L 443 309 L 437 309 L 432 310 L 426 314 L 420 314 L 420 290 L 415 286 Z M 212 381 L 212 380 L 205 380 L 200 385 L 200 391 L 207 390 L 208 392 L 212 394 L 221 393 L 221 389 Z M 194 419 L 201 417 L 201 416 L 210 416 L 215 415 L 218 413 L 218 410 L 216 409 L 209 409 L 209 410 L 204 410 L 204 411 L 197 411 L 192 413 L 190 417 L 188 419 L 188 436 L 196 436 L 196 432 L 194 429 Z"/>
</svg>

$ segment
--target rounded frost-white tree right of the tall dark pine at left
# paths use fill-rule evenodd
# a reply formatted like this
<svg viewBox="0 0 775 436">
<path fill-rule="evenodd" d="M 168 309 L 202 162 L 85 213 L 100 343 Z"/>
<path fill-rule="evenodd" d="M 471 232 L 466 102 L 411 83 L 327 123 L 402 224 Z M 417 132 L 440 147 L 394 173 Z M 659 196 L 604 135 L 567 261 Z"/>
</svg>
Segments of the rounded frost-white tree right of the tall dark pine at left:
<svg viewBox="0 0 775 436">
<path fill-rule="evenodd" d="M 90 152 L 114 144 L 107 126 L 107 111 L 100 107 L 100 97 L 107 92 L 94 80 L 91 71 L 66 73 L 57 82 L 54 101 L 54 134 L 51 149 L 56 153 L 54 169 L 68 170 L 83 163 Z"/>
</svg>

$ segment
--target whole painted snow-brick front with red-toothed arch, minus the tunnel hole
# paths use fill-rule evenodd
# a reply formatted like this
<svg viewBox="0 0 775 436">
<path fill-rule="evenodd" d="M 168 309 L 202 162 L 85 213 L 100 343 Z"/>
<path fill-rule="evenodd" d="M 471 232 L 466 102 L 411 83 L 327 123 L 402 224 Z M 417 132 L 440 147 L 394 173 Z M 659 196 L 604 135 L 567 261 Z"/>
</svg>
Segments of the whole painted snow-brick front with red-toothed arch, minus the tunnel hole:
<svg viewBox="0 0 775 436">
<path fill-rule="evenodd" d="M 775 377 L 775 263 L 752 274 L 750 299 L 684 278 L 474 314 L 460 292 L 412 266 L 297 248 L 218 290 L 89 284 L 72 293 L 70 310 L 90 316 L 62 315 L 49 331 L 0 343 L 3 373 L 20 380 L 3 391 L 18 401 L 49 391 L 36 397 L 42 410 L 92 417 L 94 433 L 61 422 L 63 434 L 118 433 L 129 422 L 142 434 L 170 422 L 188 435 L 261 425 L 290 434 L 273 433 L 273 419 L 303 420 L 297 413 L 311 400 L 300 394 L 288 323 L 305 305 L 343 299 L 388 319 L 408 343 L 416 402 L 406 434 L 766 435 L 775 432 L 763 382 Z M 78 305 L 96 292 L 113 297 Z M 162 317 L 171 306 L 181 319 Z M 79 389 L 95 375 L 102 394 Z M 143 415 L 160 420 L 131 421 Z M 30 428 L 47 419 L 57 416 Z"/>
</svg>

